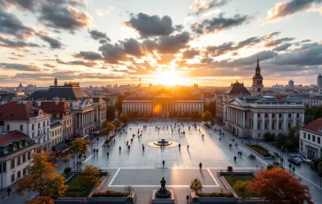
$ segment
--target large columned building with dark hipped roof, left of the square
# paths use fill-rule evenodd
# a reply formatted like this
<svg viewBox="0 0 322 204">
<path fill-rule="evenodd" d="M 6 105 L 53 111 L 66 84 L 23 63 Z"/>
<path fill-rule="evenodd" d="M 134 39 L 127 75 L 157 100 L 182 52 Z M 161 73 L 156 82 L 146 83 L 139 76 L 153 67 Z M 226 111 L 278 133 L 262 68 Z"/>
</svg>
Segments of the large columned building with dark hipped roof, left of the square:
<svg viewBox="0 0 322 204">
<path fill-rule="evenodd" d="M 58 86 L 58 81 L 55 79 L 54 86 L 50 86 L 49 90 L 36 90 L 28 98 L 35 106 L 41 106 L 43 101 L 62 101 L 69 107 L 73 119 L 73 131 L 67 134 L 80 135 L 81 137 L 88 136 L 96 127 L 95 110 L 96 105 L 93 98 L 90 98 L 83 90 L 80 89 L 78 82 L 65 82 L 63 86 Z M 101 111 L 106 115 L 106 106 L 104 102 L 100 103 Z M 106 116 L 105 116 L 106 117 Z"/>
</svg>

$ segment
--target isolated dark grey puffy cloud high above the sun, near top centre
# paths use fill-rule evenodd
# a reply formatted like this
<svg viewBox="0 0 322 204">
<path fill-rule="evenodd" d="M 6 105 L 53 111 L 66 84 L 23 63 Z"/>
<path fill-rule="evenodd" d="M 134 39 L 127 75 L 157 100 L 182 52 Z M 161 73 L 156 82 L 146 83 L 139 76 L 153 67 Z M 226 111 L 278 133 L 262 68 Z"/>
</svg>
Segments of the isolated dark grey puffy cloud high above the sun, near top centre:
<svg viewBox="0 0 322 204">
<path fill-rule="evenodd" d="M 125 22 L 126 27 L 136 30 L 142 37 L 170 35 L 175 30 L 173 20 L 169 16 L 150 16 L 147 13 L 139 12 Z"/>
</svg>

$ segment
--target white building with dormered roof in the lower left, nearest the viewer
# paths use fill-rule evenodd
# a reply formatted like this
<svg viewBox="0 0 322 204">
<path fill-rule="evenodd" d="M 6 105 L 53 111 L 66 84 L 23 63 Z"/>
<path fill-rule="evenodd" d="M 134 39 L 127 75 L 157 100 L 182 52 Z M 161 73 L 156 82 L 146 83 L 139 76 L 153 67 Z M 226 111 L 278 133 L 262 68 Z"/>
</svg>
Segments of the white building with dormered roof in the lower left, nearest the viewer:
<svg viewBox="0 0 322 204">
<path fill-rule="evenodd" d="M 1 188 L 16 183 L 26 176 L 26 168 L 35 153 L 36 144 L 20 131 L 0 133 Z"/>
</svg>

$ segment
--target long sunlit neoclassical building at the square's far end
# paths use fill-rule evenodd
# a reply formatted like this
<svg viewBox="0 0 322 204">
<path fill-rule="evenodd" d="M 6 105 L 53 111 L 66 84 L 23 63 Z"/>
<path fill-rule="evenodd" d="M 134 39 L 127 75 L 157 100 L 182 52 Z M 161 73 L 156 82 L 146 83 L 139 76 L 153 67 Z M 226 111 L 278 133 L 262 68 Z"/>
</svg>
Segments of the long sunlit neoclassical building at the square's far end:
<svg viewBox="0 0 322 204">
<path fill-rule="evenodd" d="M 203 114 L 203 100 L 174 100 L 173 96 L 160 94 L 152 99 L 126 99 L 122 102 L 123 113 L 136 113 L 137 116 L 172 117 Z"/>
</svg>

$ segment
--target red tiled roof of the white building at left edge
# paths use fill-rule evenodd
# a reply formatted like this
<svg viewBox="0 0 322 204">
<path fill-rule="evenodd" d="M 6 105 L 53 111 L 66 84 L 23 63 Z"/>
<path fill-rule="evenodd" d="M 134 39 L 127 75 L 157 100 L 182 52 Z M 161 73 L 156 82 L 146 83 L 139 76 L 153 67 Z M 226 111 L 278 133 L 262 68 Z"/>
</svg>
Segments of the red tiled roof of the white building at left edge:
<svg viewBox="0 0 322 204">
<path fill-rule="evenodd" d="M 0 120 L 28 120 L 37 116 L 40 110 L 29 103 L 10 102 L 0 106 Z"/>
</svg>

